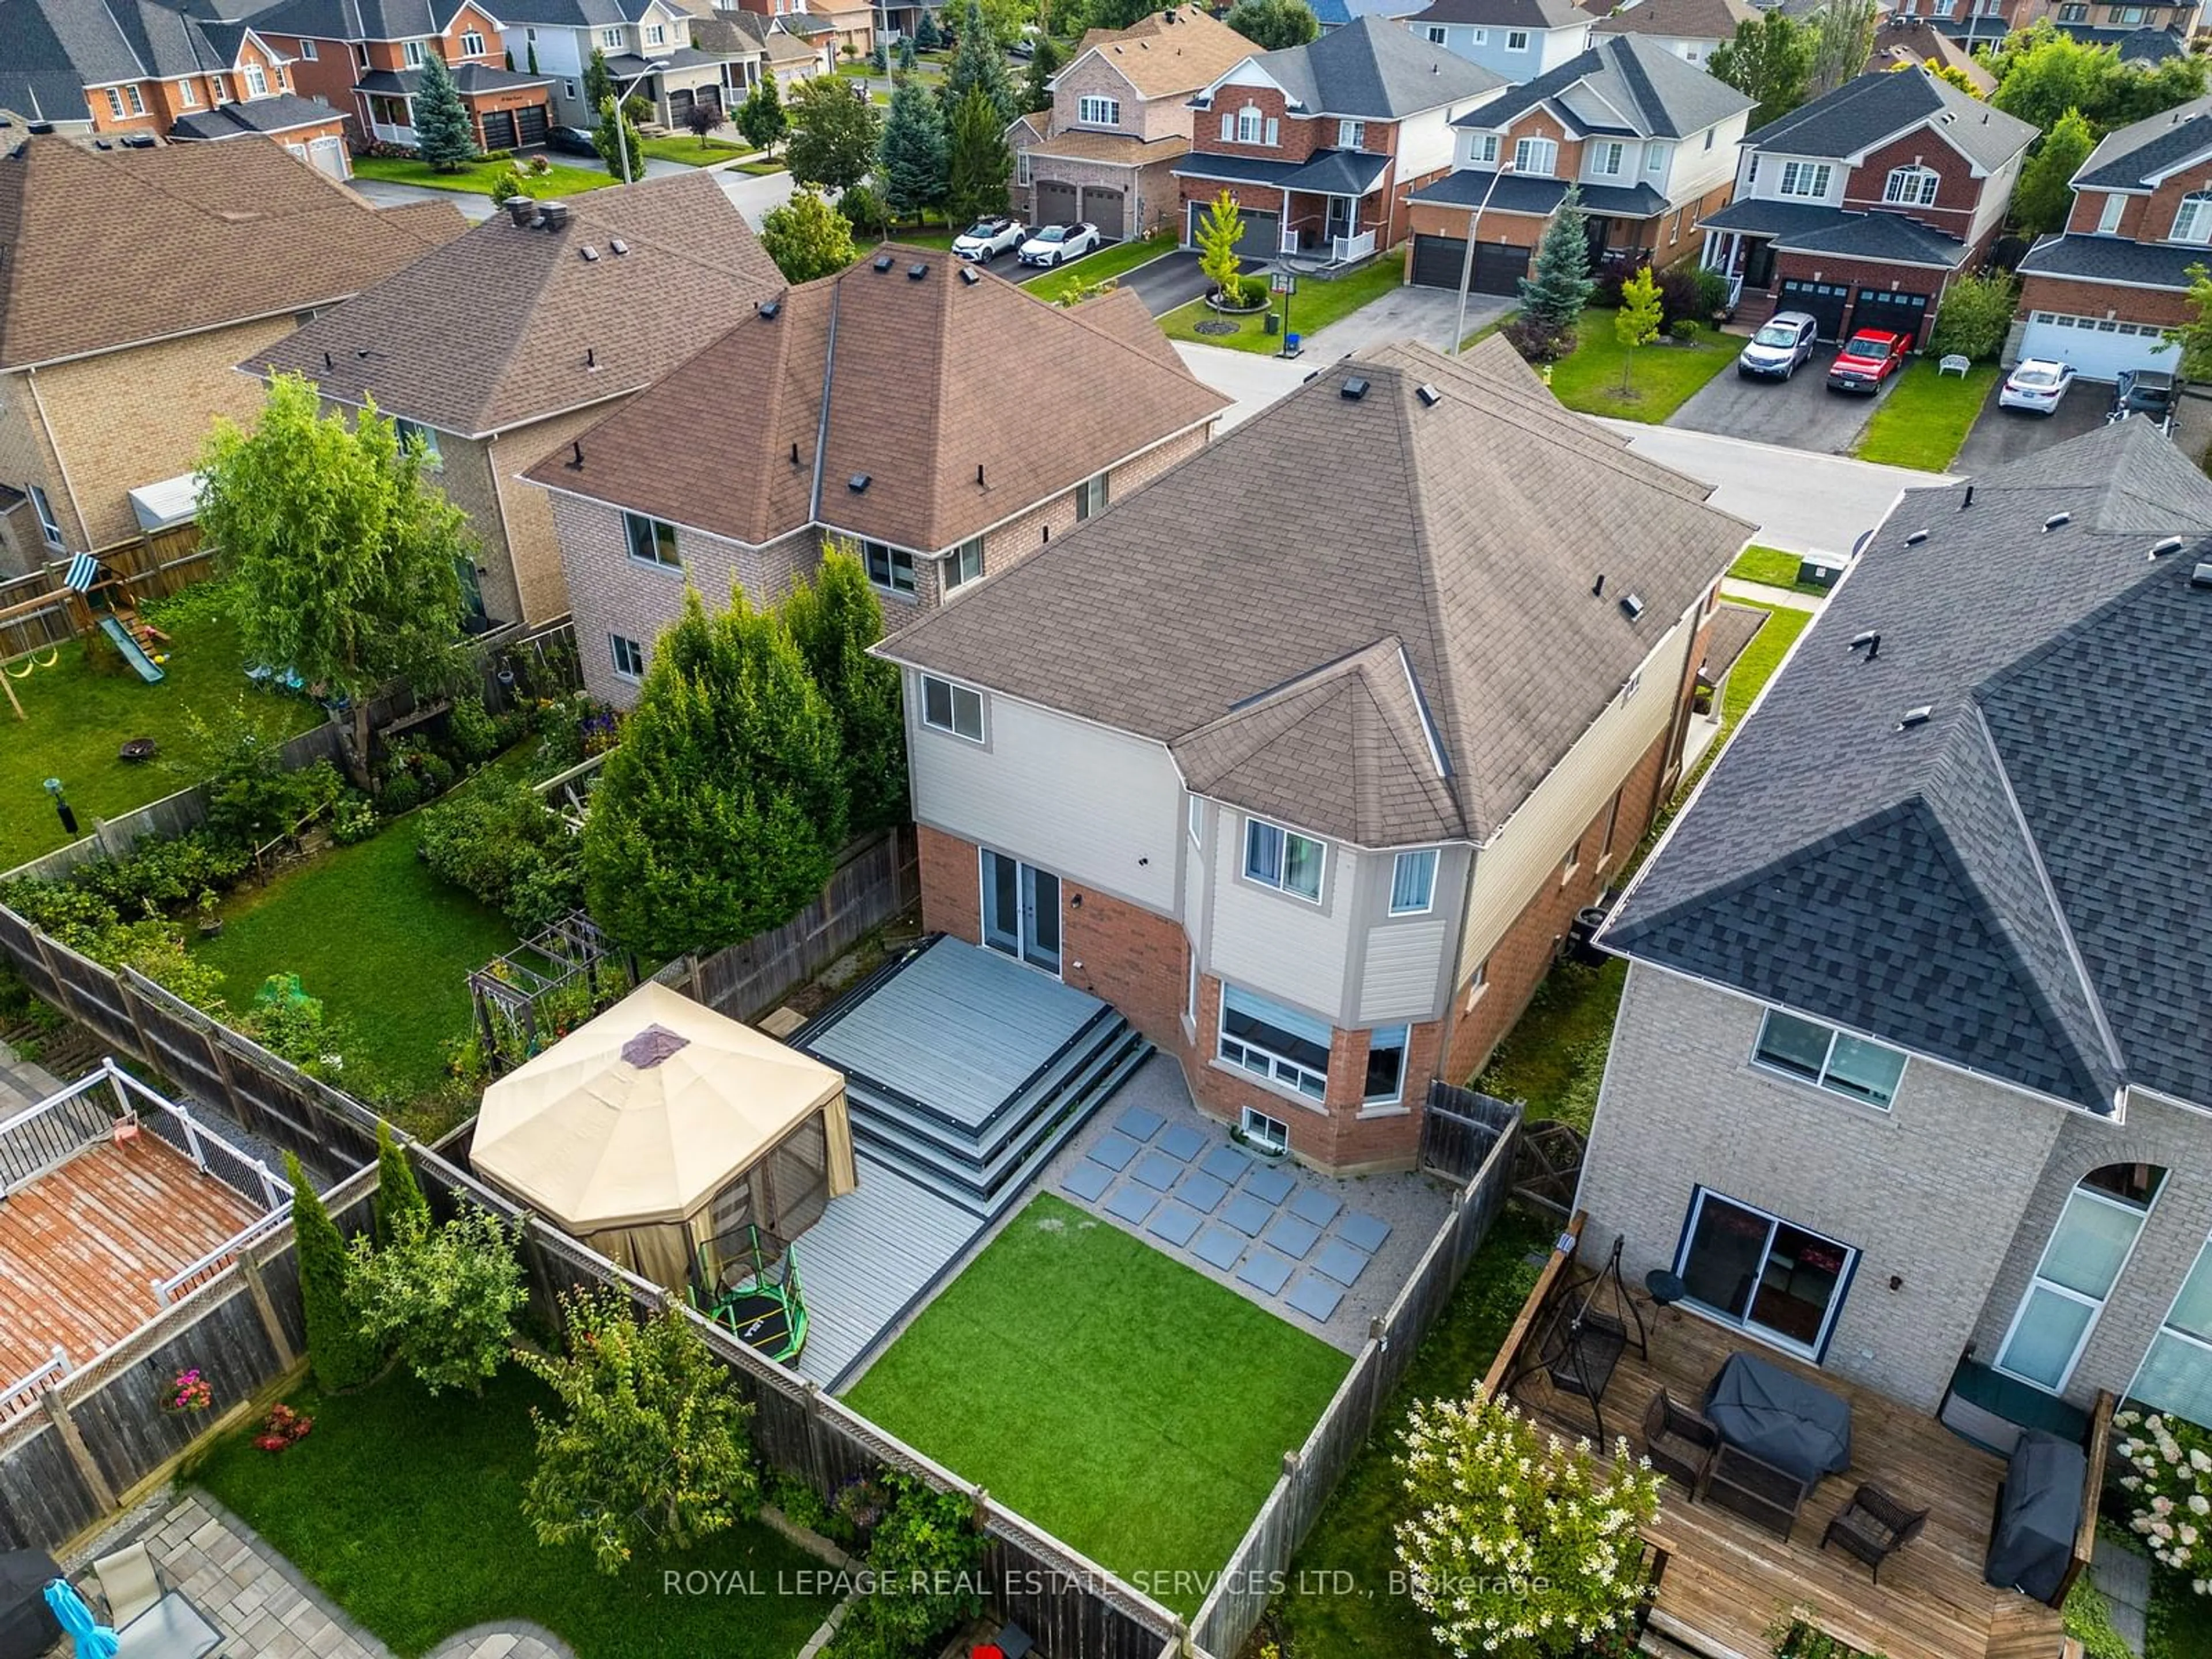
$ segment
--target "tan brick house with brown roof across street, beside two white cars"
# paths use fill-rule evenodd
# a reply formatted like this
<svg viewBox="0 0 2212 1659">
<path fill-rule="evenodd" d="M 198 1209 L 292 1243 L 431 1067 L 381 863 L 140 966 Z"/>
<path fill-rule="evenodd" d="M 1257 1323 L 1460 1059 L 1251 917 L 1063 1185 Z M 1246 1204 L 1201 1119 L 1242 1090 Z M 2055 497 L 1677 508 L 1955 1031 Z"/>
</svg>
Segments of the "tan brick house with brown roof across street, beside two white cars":
<svg viewBox="0 0 2212 1659">
<path fill-rule="evenodd" d="M 1006 128 L 1015 212 L 1033 226 L 1088 221 L 1104 237 L 1172 223 L 1172 166 L 1190 150 L 1190 97 L 1259 51 L 1199 7 L 1133 29 L 1093 29 L 1053 77 L 1053 106 Z"/>
</svg>

